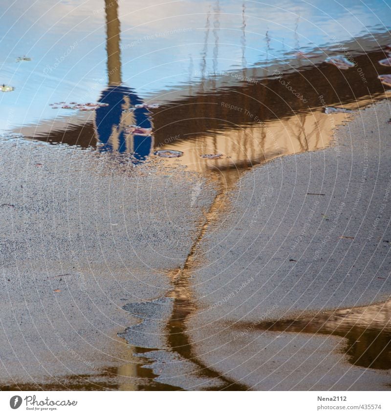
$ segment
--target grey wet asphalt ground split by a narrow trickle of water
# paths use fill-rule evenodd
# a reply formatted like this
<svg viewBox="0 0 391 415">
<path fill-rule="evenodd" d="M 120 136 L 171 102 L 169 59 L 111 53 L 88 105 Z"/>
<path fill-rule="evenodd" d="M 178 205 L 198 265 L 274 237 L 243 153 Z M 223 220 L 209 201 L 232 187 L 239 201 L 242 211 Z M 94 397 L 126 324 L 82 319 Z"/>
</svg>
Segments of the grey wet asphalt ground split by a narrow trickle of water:
<svg viewBox="0 0 391 415">
<path fill-rule="evenodd" d="M 154 349 L 157 382 L 184 389 L 388 389 L 387 371 L 348 363 L 343 338 L 255 326 L 389 299 L 389 118 L 383 101 L 338 127 L 332 147 L 248 171 L 196 245 L 218 192 L 205 178 L 1 141 L 0 383 L 120 367 L 125 338 Z M 170 271 L 192 249 L 186 361 L 165 330 Z"/>
</svg>

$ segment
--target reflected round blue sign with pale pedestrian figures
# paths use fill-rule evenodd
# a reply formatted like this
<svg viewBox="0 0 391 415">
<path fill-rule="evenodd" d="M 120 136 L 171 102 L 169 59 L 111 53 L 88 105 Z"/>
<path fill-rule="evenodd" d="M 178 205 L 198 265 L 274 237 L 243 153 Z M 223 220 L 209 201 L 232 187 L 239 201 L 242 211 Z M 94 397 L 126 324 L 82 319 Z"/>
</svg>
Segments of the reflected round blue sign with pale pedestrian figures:
<svg viewBox="0 0 391 415">
<path fill-rule="evenodd" d="M 96 109 L 97 136 L 104 144 L 101 149 L 119 153 L 134 152 L 136 160 L 145 159 L 152 152 L 152 136 L 125 132 L 128 125 L 152 128 L 148 109 L 137 108 L 128 112 L 135 105 L 142 104 L 142 100 L 132 89 L 120 85 L 107 87 L 102 92 L 99 102 L 109 104 L 107 107 Z"/>
</svg>

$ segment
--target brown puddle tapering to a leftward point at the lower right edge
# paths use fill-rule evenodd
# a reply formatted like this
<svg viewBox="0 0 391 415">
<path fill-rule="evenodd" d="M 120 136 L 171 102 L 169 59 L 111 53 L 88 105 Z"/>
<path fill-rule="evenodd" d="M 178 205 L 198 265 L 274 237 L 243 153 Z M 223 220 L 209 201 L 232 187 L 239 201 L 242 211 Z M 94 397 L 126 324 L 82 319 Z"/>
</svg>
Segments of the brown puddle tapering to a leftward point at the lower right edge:
<svg viewBox="0 0 391 415">
<path fill-rule="evenodd" d="M 391 369 L 391 301 L 298 319 L 262 322 L 255 328 L 345 337 L 349 363 L 364 368 Z"/>
</svg>

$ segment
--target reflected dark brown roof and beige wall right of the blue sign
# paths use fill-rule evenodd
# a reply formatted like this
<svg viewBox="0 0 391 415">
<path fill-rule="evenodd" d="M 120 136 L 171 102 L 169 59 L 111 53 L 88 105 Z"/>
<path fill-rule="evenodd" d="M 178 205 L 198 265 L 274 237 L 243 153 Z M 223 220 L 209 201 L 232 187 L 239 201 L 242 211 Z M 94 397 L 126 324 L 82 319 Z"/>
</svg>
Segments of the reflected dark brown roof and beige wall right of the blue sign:
<svg viewBox="0 0 391 415">
<path fill-rule="evenodd" d="M 341 72 L 324 63 L 284 74 L 283 83 L 258 77 L 257 83 L 211 90 L 205 87 L 209 83 L 205 80 L 198 90 L 192 87 L 192 96 L 178 98 L 176 91 L 168 92 L 165 97 L 172 98 L 171 102 L 153 112 L 155 144 L 184 153 L 167 163 L 185 164 L 199 172 L 224 171 L 225 176 L 231 174 L 229 170 L 237 176 L 237 169 L 281 155 L 325 148 L 333 138 L 334 126 L 347 114 L 326 115 L 322 107 L 358 109 L 384 98 L 374 65 L 383 55 L 371 52 L 355 58 L 367 74 L 367 83 L 354 68 Z M 305 102 L 285 85 L 293 85 Z M 173 136 L 177 138 L 171 140 Z M 200 158 L 205 153 L 223 153 L 224 158 Z"/>
</svg>

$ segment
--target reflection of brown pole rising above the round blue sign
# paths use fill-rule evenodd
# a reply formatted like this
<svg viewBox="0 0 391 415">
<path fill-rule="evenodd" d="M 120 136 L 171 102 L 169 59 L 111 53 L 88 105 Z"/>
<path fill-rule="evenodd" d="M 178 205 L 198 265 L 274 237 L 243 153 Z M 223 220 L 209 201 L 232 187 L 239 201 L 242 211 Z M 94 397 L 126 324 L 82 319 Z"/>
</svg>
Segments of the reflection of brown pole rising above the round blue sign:
<svg viewBox="0 0 391 415">
<path fill-rule="evenodd" d="M 117 0 L 105 0 L 109 85 L 121 85 L 120 24 Z"/>
</svg>

